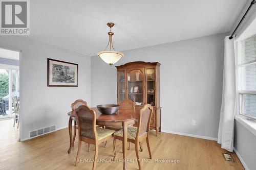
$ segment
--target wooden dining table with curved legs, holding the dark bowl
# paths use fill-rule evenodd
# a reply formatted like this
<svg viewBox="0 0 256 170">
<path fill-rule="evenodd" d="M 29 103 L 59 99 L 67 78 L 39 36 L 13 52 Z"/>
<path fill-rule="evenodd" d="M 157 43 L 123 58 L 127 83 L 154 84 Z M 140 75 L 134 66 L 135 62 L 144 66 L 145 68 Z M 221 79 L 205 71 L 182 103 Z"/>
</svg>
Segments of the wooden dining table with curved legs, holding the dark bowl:
<svg viewBox="0 0 256 170">
<path fill-rule="evenodd" d="M 123 141 L 122 141 L 122 150 L 123 150 L 123 169 L 126 169 L 126 150 L 127 150 L 127 126 L 134 125 L 138 122 L 139 111 L 140 110 L 131 110 L 131 109 L 119 109 L 115 114 L 101 114 L 98 109 L 91 108 L 96 113 L 96 124 L 100 126 L 111 126 L 111 125 L 122 125 L 123 127 Z M 69 115 L 69 137 L 70 137 L 70 148 L 68 153 L 71 152 L 73 146 L 73 137 L 72 137 L 72 122 L 76 120 L 72 115 L 72 111 L 68 113 Z"/>
</svg>

